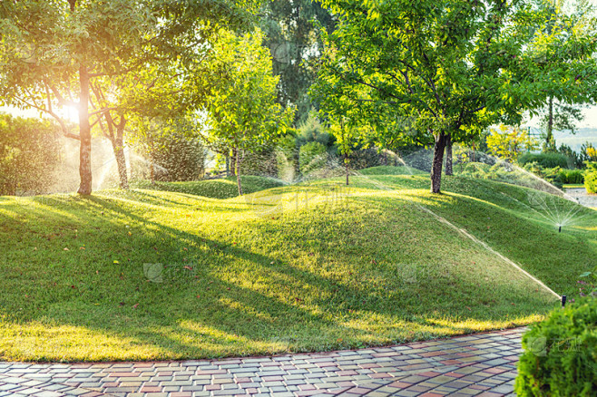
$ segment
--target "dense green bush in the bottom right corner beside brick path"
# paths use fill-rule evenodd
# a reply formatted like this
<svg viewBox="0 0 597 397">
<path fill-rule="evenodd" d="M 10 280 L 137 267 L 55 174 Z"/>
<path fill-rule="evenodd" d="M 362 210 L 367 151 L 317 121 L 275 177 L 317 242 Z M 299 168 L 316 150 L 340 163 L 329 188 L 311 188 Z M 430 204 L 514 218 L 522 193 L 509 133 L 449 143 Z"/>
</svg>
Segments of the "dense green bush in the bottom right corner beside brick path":
<svg viewBox="0 0 597 397">
<path fill-rule="evenodd" d="M 597 299 L 555 309 L 523 336 L 519 396 L 597 395 Z"/>
</svg>

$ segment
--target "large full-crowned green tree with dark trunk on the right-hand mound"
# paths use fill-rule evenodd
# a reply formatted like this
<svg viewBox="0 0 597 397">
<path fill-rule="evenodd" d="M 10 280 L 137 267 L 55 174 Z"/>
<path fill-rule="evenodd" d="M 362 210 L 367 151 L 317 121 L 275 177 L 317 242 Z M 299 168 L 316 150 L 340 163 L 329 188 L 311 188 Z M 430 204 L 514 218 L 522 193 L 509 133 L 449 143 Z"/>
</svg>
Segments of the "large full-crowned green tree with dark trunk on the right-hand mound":
<svg viewBox="0 0 597 397">
<path fill-rule="evenodd" d="M 465 142 L 498 121 L 517 124 L 549 95 L 595 96 L 588 87 L 597 42 L 538 34 L 544 12 L 522 0 L 323 4 L 338 24 L 313 91 L 322 110 L 377 124 L 379 134 L 388 120 L 409 121 L 414 140 L 434 145 L 434 193 L 450 140 Z M 537 59 L 528 51 L 534 42 L 552 48 L 559 62 Z"/>
</svg>

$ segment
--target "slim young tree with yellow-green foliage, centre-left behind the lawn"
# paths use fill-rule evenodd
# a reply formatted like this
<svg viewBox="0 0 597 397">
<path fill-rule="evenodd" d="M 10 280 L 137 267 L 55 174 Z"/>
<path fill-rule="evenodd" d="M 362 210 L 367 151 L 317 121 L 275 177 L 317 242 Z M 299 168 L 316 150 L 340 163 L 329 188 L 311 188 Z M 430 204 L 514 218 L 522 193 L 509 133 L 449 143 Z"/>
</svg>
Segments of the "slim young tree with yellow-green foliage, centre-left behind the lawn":
<svg viewBox="0 0 597 397">
<path fill-rule="evenodd" d="M 271 69 L 268 50 L 261 46 L 261 33 L 237 36 L 220 33 L 210 56 L 210 143 L 225 142 L 232 150 L 239 195 L 243 152 L 255 152 L 284 131 L 294 110 L 276 102 L 278 77 Z"/>
</svg>

